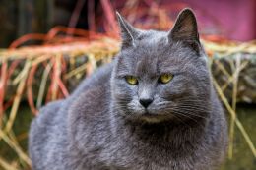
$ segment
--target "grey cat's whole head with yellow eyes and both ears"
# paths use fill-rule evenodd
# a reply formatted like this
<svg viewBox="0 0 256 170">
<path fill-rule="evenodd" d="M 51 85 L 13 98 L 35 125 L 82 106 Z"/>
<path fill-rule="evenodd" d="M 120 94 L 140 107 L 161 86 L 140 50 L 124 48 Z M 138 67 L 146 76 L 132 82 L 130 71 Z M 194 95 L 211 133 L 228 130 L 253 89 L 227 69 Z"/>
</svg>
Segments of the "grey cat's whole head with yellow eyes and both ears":
<svg viewBox="0 0 256 170">
<path fill-rule="evenodd" d="M 212 85 L 193 12 L 183 10 L 168 32 L 117 18 L 122 46 L 111 78 L 114 109 L 151 123 L 206 117 Z"/>
</svg>

